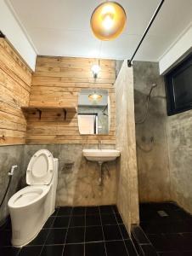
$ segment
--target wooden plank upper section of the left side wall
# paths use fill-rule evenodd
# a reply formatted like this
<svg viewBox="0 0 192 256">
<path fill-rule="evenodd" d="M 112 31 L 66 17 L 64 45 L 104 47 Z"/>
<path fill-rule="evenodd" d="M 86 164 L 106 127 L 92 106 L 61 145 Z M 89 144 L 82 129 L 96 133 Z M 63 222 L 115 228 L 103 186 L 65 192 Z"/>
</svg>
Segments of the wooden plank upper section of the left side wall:
<svg viewBox="0 0 192 256">
<path fill-rule="evenodd" d="M 25 144 L 26 120 L 20 107 L 29 104 L 31 70 L 0 38 L 0 145 Z"/>
</svg>

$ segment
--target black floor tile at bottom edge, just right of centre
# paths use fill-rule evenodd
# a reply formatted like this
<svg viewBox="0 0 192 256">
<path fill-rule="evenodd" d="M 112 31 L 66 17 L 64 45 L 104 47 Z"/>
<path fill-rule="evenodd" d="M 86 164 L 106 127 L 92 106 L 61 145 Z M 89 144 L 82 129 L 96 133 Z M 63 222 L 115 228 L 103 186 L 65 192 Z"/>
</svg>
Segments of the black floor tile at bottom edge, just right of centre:
<svg viewBox="0 0 192 256">
<path fill-rule="evenodd" d="M 123 241 L 106 241 L 107 256 L 128 256 L 127 248 Z"/>
</svg>

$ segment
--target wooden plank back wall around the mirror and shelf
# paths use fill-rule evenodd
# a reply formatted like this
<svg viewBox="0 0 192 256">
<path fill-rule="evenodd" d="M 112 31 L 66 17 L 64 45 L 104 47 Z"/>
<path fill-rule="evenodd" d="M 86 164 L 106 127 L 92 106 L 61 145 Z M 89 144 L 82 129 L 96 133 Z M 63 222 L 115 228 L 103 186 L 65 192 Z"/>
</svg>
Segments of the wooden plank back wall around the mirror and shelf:
<svg viewBox="0 0 192 256">
<path fill-rule="evenodd" d="M 93 79 L 91 67 L 97 63 L 94 59 L 68 57 L 37 57 L 36 71 L 32 76 L 30 106 L 56 106 L 61 102 L 77 106 L 78 94 L 82 89 L 106 89 L 110 94 L 111 119 L 109 135 L 80 135 L 77 114 L 67 112 L 66 120 L 62 109 L 28 114 L 26 143 L 116 143 L 115 131 L 115 61 L 100 60 L 101 72 L 98 79 Z"/>
</svg>

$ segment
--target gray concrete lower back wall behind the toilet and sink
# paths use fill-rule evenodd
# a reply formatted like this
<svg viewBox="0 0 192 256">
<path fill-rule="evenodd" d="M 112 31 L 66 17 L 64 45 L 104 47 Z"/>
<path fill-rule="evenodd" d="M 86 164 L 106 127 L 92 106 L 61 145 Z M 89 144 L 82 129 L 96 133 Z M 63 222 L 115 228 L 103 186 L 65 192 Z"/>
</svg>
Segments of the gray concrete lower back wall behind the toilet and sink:
<svg viewBox="0 0 192 256">
<path fill-rule="evenodd" d="M 103 148 L 114 148 L 114 145 L 102 146 Z M 47 148 L 54 157 L 59 159 L 57 205 L 116 204 L 116 161 L 104 164 L 104 185 L 100 187 L 99 166 L 97 163 L 85 160 L 82 156 L 82 145 L 25 145 L 24 170 L 26 170 L 31 156 L 40 148 Z M 91 148 L 98 148 L 98 146 L 92 145 Z M 65 169 L 64 164 L 69 162 L 74 162 L 75 167 Z M 107 172 L 106 167 L 109 168 L 109 172 Z"/>
</svg>

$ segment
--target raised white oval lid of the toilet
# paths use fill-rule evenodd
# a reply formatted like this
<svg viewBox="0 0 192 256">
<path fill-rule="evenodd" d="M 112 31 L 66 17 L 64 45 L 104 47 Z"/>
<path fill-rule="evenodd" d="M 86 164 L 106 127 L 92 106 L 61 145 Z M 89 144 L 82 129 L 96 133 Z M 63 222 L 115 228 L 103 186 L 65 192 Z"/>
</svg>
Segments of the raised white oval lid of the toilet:
<svg viewBox="0 0 192 256">
<path fill-rule="evenodd" d="M 29 162 L 26 183 L 29 185 L 49 184 L 54 173 L 54 157 L 47 149 L 38 150 Z"/>
</svg>

